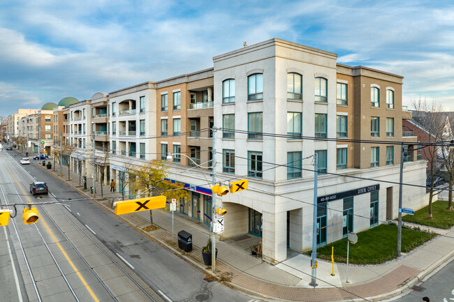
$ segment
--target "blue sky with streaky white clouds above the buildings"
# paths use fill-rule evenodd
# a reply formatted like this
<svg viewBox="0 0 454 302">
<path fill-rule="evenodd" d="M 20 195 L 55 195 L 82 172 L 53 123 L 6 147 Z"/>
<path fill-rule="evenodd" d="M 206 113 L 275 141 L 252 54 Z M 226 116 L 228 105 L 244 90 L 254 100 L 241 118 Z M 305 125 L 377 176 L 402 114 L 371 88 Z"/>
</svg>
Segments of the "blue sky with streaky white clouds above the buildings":
<svg viewBox="0 0 454 302">
<path fill-rule="evenodd" d="M 212 68 L 271 38 L 404 76 L 404 105 L 454 110 L 453 1 L 0 3 L 0 116 Z"/>
</svg>

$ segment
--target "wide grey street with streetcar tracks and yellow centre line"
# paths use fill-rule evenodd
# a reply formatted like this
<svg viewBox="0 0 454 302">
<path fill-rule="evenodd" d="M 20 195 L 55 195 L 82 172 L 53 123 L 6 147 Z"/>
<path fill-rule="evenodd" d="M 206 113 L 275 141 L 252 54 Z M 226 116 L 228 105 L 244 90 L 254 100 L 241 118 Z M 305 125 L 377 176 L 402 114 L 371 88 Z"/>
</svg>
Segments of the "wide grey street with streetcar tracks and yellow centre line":
<svg viewBox="0 0 454 302">
<path fill-rule="evenodd" d="M 1 301 L 254 301 L 205 281 L 203 273 L 61 183 L 37 161 L 20 165 L 20 158 L 16 151 L 0 152 L 1 202 L 32 202 L 40 219 L 24 225 L 20 205 L 0 232 L 11 250 L 1 245 Z M 50 194 L 32 197 L 32 181 L 46 182 Z M 61 200 L 71 201 L 39 205 Z"/>
</svg>

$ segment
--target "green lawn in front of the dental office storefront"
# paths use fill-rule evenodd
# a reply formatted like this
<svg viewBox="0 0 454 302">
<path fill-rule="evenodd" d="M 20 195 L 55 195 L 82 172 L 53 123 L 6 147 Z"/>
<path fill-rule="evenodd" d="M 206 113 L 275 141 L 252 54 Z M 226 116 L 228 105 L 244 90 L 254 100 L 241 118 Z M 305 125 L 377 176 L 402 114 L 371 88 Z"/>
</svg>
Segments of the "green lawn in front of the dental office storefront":
<svg viewBox="0 0 454 302">
<path fill-rule="evenodd" d="M 409 252 L 435 236 L 437 235 L 402 228 L 402 252 Z M 331 260 L 332 245 L 334 246 L 335 262 L 346 263 L 346 238 L 318 248 L 317 257 Z M 358 243 L 350 243 L 349 263 L 351 264 L 380 264 L 396 257 L 397 227 L 394 225 L 379 225 L 360 232 L 358 233 Z"/>
</svg>

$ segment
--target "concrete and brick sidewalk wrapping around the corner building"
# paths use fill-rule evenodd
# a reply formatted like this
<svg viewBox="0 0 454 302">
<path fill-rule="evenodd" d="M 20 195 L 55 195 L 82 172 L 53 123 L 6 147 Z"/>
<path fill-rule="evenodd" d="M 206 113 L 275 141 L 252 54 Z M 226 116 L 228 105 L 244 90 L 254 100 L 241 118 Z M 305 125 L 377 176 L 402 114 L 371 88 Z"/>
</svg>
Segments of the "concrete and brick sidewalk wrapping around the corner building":
<svg viewBox="0 0 454 302">
<path fill-rule="evenodd" d="M 52 161 L 52 160 L 51 160 Z M 33 163 L 33 162 L 32 162 Z M 52 161 L 53 164 L 53 161 Z M 41 165 L 40 165 L 41 166 Z M 42 167 L 42 166 L 41 166 Z M 42 167 L 46 169 L 46 167 Z M 46 169 L 59 177 L 59 165 L 56 172 Z M 63 167 L 63 180 L 87 197 L 91 197 L 89 190 L 79 187 L 79 176 L 70 172 L 71 181 L 67 181 L 68 167 Z M 88 188 L 91 179 L 87 179 Z M 113 213 L 112 198 L 121 200 L 119 192 L 109 192 L 109 186 L 103 186 L 106 200 L 96 200 L 107 211 Z M 96 183 L 96 197 L 101 197 L 101 186 Z M 125 199 L 128 199 L 126 196 Z M 146 232 L 143 229 L 149 226 L 149 212 L 131 213 L 120 216 L 136 229 L 173 250 L 188 262 L 198 266 L 207 274 L 212 274 L 209 267 L 203 264 L 201 248 L 206 245 L 210 236 L 209 228 L 192 218 L 165 210 L 154 210 L 153 221 L 159 229 Z M 172 222 L 174 232 L 172 234 Z M 177 233 L 185 230 L 192 234 L 193 250 L 186 253 L 177 246 Z M 250 248 L 258 244 L 256 236 L 244 234 L 234 239 L 220 239 L 217 241 L 218 261 L 214 278 L 226 282 L 233 287 L 242 289 L 262 299 L 279 299 L 288 301 L 344 301 L 367 298 L 379 301 L 396 296 L 413 287 L 425 275 L 439 268 L 442 264 L 451 261 L 454 256 L 453 237 L 451 230 L 434 229 L 438 236 L 424 246 L 413 250 L 409 255 L 403 255 L 393 262 L 376 266 L 349 266 L 349 282 L 346 282 L 346 265 L 335 264 L 334 275 L 332 264 L 318 260 L 317 283 L 313 288 L 311 282 L 310 257 L 298 252 L 288 252 L 286 261 L 276 265 L 268 264 L 261 258 L 251 256 Z"/>
</svg>

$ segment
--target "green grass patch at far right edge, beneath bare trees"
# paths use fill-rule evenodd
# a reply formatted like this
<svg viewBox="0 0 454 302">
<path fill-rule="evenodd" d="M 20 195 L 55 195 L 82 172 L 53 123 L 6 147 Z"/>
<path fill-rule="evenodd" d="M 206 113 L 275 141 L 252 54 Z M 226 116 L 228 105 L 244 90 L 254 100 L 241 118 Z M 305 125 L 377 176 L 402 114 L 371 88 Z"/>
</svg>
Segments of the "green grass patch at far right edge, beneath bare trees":
<svg viewBox="0 0 454 302">
<path fill-rule="evenodd" d="M 432 217 L 429 220 L 429 206 L 425 206 L 415 212 L 415 215 L 406 215 L 402 217 L 402 221 L 418 223 L 418 225 L 427 225 L 429 227 L 438 227 L 440 229 L 451 229 L 454 226 L 454 211 L 448 211 L 447 200 L 438 200 L 432 202 Z"/>
</svg>

